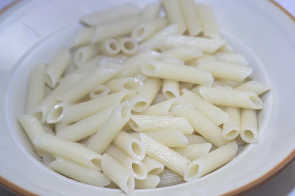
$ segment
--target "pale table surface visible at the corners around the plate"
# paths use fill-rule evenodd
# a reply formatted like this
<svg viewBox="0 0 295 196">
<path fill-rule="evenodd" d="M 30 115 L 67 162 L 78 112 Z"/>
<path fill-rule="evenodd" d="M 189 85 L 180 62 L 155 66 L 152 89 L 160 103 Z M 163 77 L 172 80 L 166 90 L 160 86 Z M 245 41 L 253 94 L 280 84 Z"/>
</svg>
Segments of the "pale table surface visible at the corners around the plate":
<svg viewBox="0 0 295 196">
<path fill-rule="evenodd" d="M 0 0 L 0 8 L 12 0 Z M 295 16 L 295 0 L 276 0 Z M 0 187 L 0 196 L 15 196 Z M 295 196 L 295 162 L 275 178 L 244 196 Z"/>
</svg>

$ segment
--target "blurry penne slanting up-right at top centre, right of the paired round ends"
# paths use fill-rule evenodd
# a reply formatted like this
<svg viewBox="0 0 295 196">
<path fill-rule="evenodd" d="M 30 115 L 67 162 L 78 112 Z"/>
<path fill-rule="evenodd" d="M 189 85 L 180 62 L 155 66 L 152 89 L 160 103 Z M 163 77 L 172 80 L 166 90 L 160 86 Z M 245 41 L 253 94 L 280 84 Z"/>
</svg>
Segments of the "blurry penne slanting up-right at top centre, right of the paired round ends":
<svg viewBox="0 0 295 196">
<path fill-rule="evenodd" d="M 159 41 L 168 35 L 177 35 L 177 24 L 172 24 L 157 32 L 152 38 L 139 46 L 140 50 L 153 50 Z"/>
</svg>

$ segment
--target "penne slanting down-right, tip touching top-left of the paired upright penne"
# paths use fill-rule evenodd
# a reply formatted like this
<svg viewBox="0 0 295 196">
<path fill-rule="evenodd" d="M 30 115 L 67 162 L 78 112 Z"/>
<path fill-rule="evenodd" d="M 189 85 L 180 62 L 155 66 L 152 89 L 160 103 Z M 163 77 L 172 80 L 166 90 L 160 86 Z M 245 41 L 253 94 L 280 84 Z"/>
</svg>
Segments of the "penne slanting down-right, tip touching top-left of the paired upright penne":
<svg viewBox="0 0 295 196">
<path fill-rule="evenodd" d="M 182 94 L 180 98 L 191 103 L 197 111 L 204 114 L 216 125 L 221 125 L 229 120 L 229 114 L 227 112 L 220 110 L 218 107 L 212 105 L 210 102 L 207 102 L 193 92 L 187 89 L 182 89 L 180 94 Z"/>
</svg>

